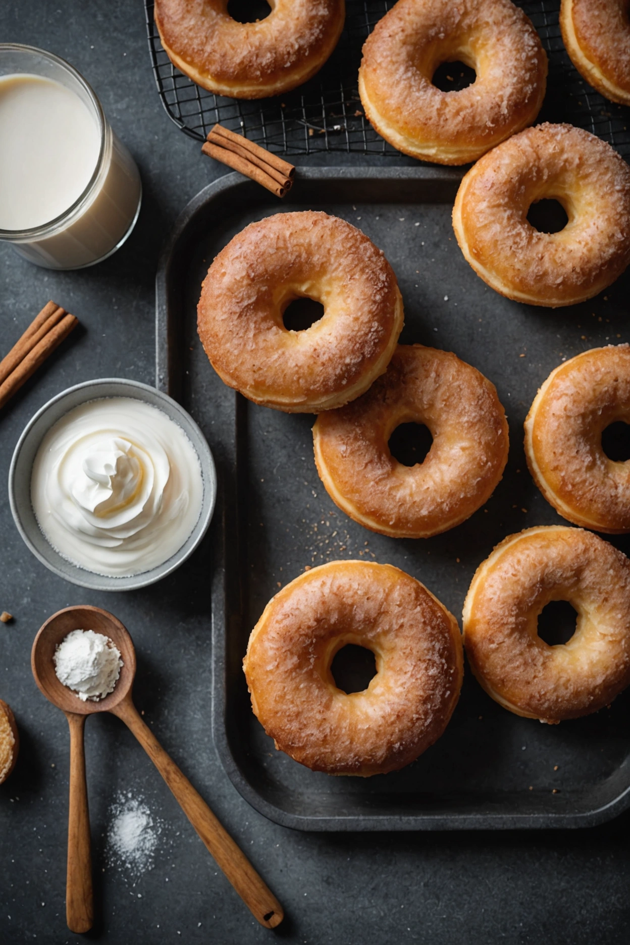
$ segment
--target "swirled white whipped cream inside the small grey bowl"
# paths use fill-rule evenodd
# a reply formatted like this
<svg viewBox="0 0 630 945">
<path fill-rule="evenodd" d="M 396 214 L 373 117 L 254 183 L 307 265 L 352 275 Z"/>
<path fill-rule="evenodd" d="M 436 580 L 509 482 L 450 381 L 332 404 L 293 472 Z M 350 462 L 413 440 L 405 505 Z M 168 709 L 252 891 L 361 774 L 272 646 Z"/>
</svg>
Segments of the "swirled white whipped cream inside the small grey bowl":
<svg viewBox="0 0 630 945">
<path fill-rule="evenodd" d="M 162 410 L 128 397 L 81 404 L 33 464 L 37 521 L 63 558 L 98 575 L 142 574 L 171 558 L 203 500 L 198 456 Z"/>
</svg>

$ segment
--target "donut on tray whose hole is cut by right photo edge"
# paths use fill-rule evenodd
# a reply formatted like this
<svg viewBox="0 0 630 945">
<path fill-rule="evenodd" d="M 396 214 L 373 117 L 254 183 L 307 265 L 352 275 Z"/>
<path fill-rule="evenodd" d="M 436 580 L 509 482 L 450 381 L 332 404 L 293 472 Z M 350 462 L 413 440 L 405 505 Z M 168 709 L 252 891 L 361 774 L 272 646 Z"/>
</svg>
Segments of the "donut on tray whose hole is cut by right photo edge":
<svg viewBox="0 0 630 945">
<path fill-rule="evenodd" d="M 559 365 L 525 421 L 525 455 L 536 486 L 576 525 L 630 532 L 630 462 L 602 449 L 602 433 L 630 423 L 630 345 L 593 348 Z"/>
</svg>

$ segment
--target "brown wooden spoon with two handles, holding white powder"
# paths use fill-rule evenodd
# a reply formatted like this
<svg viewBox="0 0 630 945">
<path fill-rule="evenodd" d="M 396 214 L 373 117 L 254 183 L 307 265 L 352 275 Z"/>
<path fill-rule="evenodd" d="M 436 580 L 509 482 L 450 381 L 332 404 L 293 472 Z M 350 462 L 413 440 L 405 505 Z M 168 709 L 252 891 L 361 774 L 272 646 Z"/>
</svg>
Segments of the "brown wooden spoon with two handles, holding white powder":
<svg viewBox="0 0 630 945">
<path fill-rule="evenodd" d="M 71 630 L 94 630 L 109 637 L 120 650 L 124 663 L 112 693 L 98 702 L 83 702 L 57 678 L 53 655 Z M 213 815 L 205 800 L 166 754 L 153 732 L 145 725 L 131 699 L 136 673 L 136 654 L 126 627 L 107 610 L 98 607 L 67 607 L 45 622 L 33 642 L 31 666 L 35 681 L 53 705 L 65 713 L 70 724 L 70 817 L 68 824 L 68 872 L 66 919 L 73 932 L 87 932 L 92 926 L 92 868 L 90 864 L 90 821 L 83 755 L 85 716 L 111 712 L 133 732 L 153 764 L 158 768 L 218 866 L 261 925 L 273 929 L 284 913 L 280 902 L 252 867 L 247 856 Z"/>
</svg>

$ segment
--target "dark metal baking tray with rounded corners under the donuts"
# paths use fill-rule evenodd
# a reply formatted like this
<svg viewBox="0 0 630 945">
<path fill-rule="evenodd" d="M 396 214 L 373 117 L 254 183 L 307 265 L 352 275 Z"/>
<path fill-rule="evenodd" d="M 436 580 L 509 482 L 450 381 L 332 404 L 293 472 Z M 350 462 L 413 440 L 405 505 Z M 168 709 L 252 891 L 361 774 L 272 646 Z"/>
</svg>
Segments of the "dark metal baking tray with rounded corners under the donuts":
<svg viewBox="0 0 630 945">
<path fill-rule="evenodd" d="M 268 599 L 306 565 L 335 558 L 390 562 L 461 618 L 475 568 L 512 532 L 558 524 L 527 472 L 522 422 L 536 388 L 563 359 L 626 332 L 629 280 L 569 309 L 502 299 L 473 273 L 451 231 L 461 172 L 450 168 L 298 168 L 280 203 L 237 174 L 179 217 L 157 278 L 157 384 L 192 413 L 213 449 L 213 737 L 230 780 L 270 819 L 303 830 L 578 827 L 630 803 L 630 694 L 559 726 L 493 702 L 468 667 L 439 741 L 402 771 L 332 778 L 276 751 L 251 713 L 242 659 Z M 219 380 L 196 336 L 199 285 L 213 256 L 251 220 L 322 209 L 381 247 L 405 303 L 400 340 L 454 351 L 497 386 L 510 424 L 502 483 L 468 522 L 430 540 L 375 535 L 337 509 L 313 458 L 313 416 L 250 404 Z M 613 543 L 628 551 L 628 540 Z M 547 613 L 547 611 L 546 611 Z M 209 627 L 210 632 L 210 627 Z M 210 722 L 210 720 L 209 720 Z"/>
</svg>

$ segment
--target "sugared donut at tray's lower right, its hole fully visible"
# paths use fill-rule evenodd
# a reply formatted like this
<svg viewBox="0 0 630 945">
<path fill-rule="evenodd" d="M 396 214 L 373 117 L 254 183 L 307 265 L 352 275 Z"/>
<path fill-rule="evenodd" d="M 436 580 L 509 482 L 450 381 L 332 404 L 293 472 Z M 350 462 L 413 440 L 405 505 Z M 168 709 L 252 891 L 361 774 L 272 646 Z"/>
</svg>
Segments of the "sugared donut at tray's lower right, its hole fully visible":
<svg viewBox="0 0 630 945">
<path fill-rule="evenodd" d="M 537 634 L 553 600 L 577 610 L 567 644 Z M 581 528 L 510 535 L 472 578 L 464 645 L 475 677 L 504 709 L 549 724 L 597 712 L 630 682 L 630 561 Z"/>
</svg>

